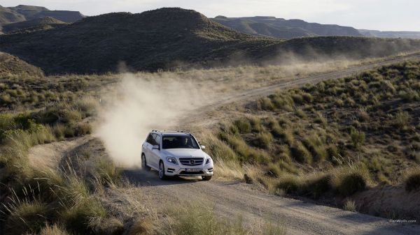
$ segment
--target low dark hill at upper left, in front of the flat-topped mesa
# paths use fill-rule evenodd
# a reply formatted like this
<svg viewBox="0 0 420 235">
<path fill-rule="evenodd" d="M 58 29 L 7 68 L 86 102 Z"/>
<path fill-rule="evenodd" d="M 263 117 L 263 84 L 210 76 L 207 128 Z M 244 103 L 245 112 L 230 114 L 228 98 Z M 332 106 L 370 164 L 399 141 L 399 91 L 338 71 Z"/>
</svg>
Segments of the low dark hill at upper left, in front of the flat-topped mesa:
<svg viewBox="0 0 420 235">
<path fill-rule="evenodd" d="M 34 20 L 6 24 L 3 26 L 3 33 L 10 33 L 15 31 L 35 31 L 39 29 L 52 29 L 56 26 L 62 26 L 63 24 L 66 23 L 52 17 L 43 17 Z"/>
</svg>

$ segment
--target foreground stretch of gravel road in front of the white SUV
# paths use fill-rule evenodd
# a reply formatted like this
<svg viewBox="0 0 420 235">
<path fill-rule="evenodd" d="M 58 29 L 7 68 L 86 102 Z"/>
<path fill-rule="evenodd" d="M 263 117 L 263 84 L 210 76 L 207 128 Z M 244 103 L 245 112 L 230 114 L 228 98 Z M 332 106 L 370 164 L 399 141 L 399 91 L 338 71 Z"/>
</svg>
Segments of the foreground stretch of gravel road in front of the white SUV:
<svg viewBox="0 0 420 235">
<path fill-rule="evenodd" d="M 161 181 L 156 171 L 139 169 L 126 170 L 125 174 L 155 206 L 205 199 L 214 204 L 221 217 L 241 215 L 248 225 L 281 222 L 287 234 L 420 234 L 420 225 L 391 223 L 384 218 L 269 195 L 246 183 L 183 178 Z"/>
</svg>

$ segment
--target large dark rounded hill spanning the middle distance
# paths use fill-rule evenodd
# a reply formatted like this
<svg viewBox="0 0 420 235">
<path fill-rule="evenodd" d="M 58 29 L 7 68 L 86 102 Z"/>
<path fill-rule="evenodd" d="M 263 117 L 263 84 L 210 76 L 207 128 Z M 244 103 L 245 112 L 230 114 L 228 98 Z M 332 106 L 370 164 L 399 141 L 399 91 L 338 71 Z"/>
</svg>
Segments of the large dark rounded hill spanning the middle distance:
<svg viewBox="0 0 420 235">
<path fill-rule="evenodd" d="M 388 50 L 381 50 L 388 48 Z M 46 73 L 107 73 L 178 66 L 235 66 L 328 56 L 360 59 L 419 50 L 419 40 L 314 37 L 278 40 L 239 33 L 194 10 L 86 17 L 48 31 L 0 36 L 0 50 Z"/>
</svg>

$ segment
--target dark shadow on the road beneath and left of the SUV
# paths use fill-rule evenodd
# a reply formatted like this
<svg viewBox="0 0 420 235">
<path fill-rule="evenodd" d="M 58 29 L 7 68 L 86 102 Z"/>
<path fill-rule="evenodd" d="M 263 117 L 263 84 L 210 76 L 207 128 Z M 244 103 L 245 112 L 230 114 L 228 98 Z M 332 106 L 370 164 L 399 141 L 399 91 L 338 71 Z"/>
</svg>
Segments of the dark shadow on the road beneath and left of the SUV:
<svg viewBox="0 0 420 235">
<path fill-rule="evenodd" d="M 162 181 L 159 179 L 158 171 L 145 171 L 143 169 L 123 169 L 123 175 L 133 185 L 139 186 L 160 186 L 160 185 L 176 185 L 182 183 L 195 183 L 202 181 L 201 177 L 169 177 Z"/>
</svg>

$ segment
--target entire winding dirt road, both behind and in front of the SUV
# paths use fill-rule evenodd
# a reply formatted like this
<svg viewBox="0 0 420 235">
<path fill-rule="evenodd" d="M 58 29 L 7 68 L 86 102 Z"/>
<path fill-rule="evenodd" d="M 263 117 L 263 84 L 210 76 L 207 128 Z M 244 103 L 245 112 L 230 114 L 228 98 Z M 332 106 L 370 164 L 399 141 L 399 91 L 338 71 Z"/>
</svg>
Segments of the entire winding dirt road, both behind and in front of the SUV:
<svg viewBox="0 0 420 235">
<path fill-rule="evenodd" d="M 265 96 L 278 89 L 301 86 L 306 83 L 321 82 L 325 79 L 349 76 L 363 70 L 369 70 L 378 66 L 384 66 L 389 63 L 404 61 L 407 59 L 420 59 L 419 54 L 412 56 L 403 56 L 398 59 L 391 59 L 379 63 L 373 63 L 365 66 L 347 68 L 332 73 L 323 73 L 309 77 L 286 80 L 271 86 L 265 86 L 251 91 L 241 91 L 220 98 L 217 103 L 211 105 L 209 109 L 203 112 L 209 112 L 232 102 L 241 100 L 251 100 L 258 96 Z M 192 117 L 191 121 L 198 123 L 203 120 Z M 217 119 L 213 116 L 212 119 Z M 86 142 L 90 138 L 85 138 Z M 72 147 L 85 144 L 74 141 Z M 60 152 L 59 144 L 46 144 L 44 148 L 54 149 L 55 154 Z M 43 152 L 36 146 L 34 155 Z M 69 149 L 69 144 L 62 143 L 62 152 Z M 44 151 L 45 152 L 45 151 Z M 32 156 L 35 158 L 36 156 Z M 125 175 L 131 183 L 138 186 L 139 193 L 148 195 L 148 200 L 155 206 L 161 206 L 167 202 L 194 202 L 195 199 L 207 199 L 213 203 L 218 216 L 222 218 L 235 218 L 241 215 L 248 225 L 260 223 L 261 221 L 281 222 L 287 229 L 287 234 L 420 234 L 420 225 L 403 225 L 401 223 L 391 223 L 384 218 L 377 218 L 361 213 L 343 211 L 341 209 L 320 206 L 306 203 L 295 199 L 269 195 L 264 190 L 253 188 L 241 182 L 227 181 L 200 181 L 197 179 L 171 179 L 169 181 L 160 181 L 155 171 L 143 172 L 139 169 L 126 169 Z"/>
</svg>

